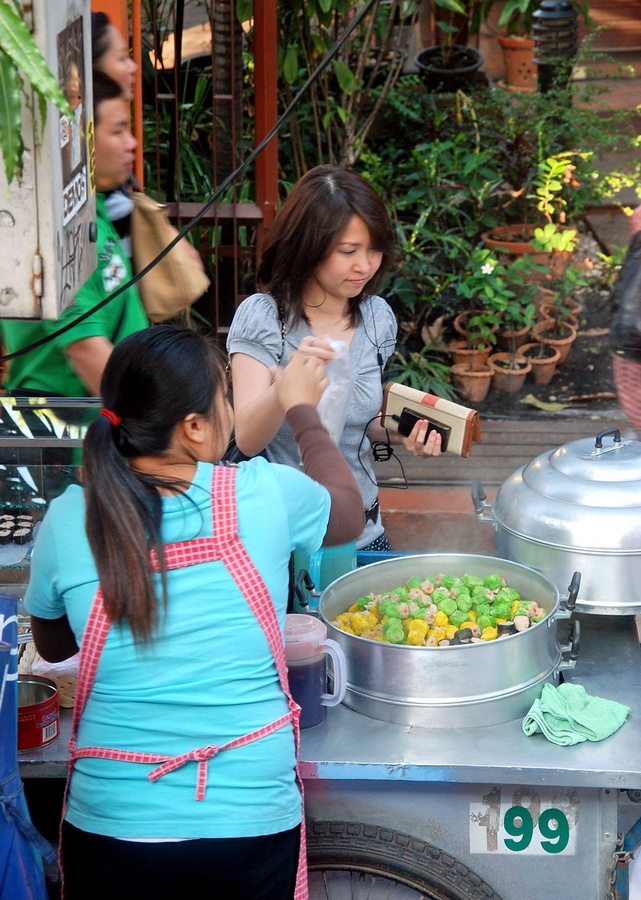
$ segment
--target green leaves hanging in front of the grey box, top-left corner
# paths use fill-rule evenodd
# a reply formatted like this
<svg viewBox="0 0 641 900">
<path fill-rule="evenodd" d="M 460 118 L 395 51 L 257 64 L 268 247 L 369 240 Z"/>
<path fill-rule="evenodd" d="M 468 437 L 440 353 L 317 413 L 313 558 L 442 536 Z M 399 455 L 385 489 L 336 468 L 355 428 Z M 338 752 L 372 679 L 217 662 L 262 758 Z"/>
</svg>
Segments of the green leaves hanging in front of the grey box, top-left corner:
<svg viewBox="0 0 641 900">
<path fill-rule="evenodd" d="M 19 10 L 17 4 L 12 6 L 0 0 L 0 150 L 7 184 L 22 177 L 22 98 L 30 105 L 27 85 L 38 95 L 42 127 L 47 117 L 47 100 L 73 116 Z M 35 116 L 34 122 L 37 125 Z"/>
</svg>

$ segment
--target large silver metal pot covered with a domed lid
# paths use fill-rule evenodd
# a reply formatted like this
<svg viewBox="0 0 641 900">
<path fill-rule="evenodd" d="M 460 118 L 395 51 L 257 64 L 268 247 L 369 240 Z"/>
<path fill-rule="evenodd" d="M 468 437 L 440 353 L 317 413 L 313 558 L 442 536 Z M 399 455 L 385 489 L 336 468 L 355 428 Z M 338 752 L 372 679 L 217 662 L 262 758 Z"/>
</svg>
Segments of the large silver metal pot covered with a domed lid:
<svg viewBox="0 0 641 900">
<path fill-rule="evenodd" d="M 538 569 L 558 587 L 581 572 L 578 612 L 641 613 L 641 443 L 617 428 L 548 450 L 513 472 L 492 504 L 497 556 Z"/>
</svg>

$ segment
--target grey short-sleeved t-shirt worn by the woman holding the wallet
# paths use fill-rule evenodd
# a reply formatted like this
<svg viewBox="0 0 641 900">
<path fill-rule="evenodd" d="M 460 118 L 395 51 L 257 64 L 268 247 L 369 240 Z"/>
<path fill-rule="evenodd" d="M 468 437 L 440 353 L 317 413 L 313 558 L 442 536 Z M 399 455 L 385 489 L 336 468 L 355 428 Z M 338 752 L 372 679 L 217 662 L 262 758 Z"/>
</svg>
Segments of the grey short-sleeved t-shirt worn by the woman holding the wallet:
<svg viewBox="0 0 641 900">
<path fill-rule="evenodd" d="M 371 466 L 370 443 L 367 428 L 381 410 L 383 402 L 382 369 L 394 352 L 396 345 L 396 319 L 382 297 L 368 297 L 361 304 L 361 321 L 349 347 L 352 371 L 352 393 L 339 449 L 345 457 L 363 497 L 363 507 L 369 509 L 376 500 L 378 488 Z M 312 334 L 309 325 L 301 319 L 295 328 L 281 322 L 273 297 L 269 294 L 252 294 L 244 300 L 234 315 L 227 337 L 227 351 L 245 353 L 271 368 L 279 360 L 286 365 L 290 354 L 304 337 Z M 300 466 L 301 458 L 294 435 L 284 422 L 267 447 L 267 457 L 272 462 Z M 367 522 L 357 541 L 358 547 L 366 547 L 383 532 L 380 513 L 376 522 Z"/>
</svg>

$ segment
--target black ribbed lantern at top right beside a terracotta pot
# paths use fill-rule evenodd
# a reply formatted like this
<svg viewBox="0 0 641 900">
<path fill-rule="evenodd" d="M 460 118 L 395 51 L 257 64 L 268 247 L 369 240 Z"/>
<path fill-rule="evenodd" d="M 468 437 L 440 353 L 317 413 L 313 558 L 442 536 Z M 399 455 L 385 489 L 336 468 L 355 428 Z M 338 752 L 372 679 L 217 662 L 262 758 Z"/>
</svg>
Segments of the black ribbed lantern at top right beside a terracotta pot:
<svg viewBox="0 0 641 900">
<path fill-rule="evenodd" d="M 579 48 L 577 10 L 572 0 L 543 0 L 532 20 L 539 90 L 545 92 L 570 79 L 570 60 Z"/>
</svg>

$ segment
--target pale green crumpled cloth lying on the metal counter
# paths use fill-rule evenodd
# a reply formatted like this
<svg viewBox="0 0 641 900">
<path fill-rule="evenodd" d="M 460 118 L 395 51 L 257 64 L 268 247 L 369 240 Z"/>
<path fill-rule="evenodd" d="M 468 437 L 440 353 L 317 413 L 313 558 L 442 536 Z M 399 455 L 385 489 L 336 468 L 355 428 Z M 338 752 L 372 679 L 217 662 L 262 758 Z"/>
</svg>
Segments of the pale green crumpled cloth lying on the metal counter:
<svg viewBox="0 0 641 900">
<path fill-rule="evenodd" d="M 569 747 L 582 741 L 602 741 L 623 725 L 629 706 L 591 697 L 580 684 L 546 684 L 523 719 L 525 734 L 542 732 L 548 741 Z"/>
</svg>

